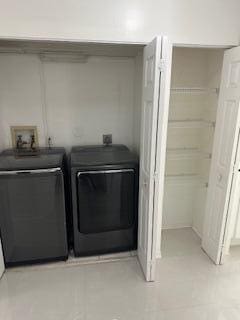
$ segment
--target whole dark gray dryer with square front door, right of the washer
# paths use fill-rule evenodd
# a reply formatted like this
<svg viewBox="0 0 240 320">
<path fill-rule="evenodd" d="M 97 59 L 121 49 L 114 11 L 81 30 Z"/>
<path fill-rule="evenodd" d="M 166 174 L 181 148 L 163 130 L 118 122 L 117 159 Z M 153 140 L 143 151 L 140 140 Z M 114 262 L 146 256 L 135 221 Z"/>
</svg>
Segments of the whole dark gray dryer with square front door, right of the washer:
<svg viewBox="0 0 240 320">
<path fill-rule="evenodd" d="M 110 145 L 73 147 L 70 159 L 75 255 L 136 249 L 137 157 Z"/>
</svg>

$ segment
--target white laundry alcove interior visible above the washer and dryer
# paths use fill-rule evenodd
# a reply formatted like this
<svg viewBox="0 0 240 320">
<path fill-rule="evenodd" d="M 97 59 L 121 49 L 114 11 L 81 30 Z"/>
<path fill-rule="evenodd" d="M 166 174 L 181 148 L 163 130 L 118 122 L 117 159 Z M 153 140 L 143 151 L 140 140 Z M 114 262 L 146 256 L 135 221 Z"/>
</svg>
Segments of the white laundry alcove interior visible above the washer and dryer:
<svg viewBox="0 0 240 320">
<path fill-rule="evenodd" d="M 125 144 L 139 154 L 144 45 L 0 40 L 0 152 L 11 126 L 38 144 Z"/>
</svg>

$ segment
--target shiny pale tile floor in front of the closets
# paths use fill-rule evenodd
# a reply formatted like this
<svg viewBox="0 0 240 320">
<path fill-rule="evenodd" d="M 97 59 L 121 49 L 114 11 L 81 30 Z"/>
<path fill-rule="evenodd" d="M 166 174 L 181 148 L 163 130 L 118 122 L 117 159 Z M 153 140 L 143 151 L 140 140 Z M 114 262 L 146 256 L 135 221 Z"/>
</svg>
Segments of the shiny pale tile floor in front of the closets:
<svg viewBox="0 0 240 320">
<path fill-rule="evenodd" d="M 216 267 L 191 229 L 163 232 L 157 281 L 136 257 L 9 270 L 0 281 L 1 320 L 239 320 L 240 250 Z"/>
</svg>

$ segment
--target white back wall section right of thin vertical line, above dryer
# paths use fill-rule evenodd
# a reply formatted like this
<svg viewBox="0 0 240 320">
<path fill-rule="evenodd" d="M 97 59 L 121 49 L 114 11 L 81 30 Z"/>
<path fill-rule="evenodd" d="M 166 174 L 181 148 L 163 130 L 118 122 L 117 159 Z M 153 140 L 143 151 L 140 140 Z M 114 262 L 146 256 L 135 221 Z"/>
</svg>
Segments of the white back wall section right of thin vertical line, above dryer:
<svg viewBox="0 0 240 320">
<path fill-rule="evenodd" d="M 133 145 L 134 59 L 90 58 L 87 63 L 46 63 L 49 134 L 53 143 Z"/>
</svg>

